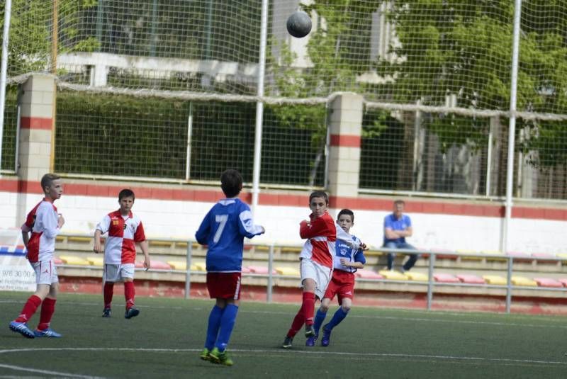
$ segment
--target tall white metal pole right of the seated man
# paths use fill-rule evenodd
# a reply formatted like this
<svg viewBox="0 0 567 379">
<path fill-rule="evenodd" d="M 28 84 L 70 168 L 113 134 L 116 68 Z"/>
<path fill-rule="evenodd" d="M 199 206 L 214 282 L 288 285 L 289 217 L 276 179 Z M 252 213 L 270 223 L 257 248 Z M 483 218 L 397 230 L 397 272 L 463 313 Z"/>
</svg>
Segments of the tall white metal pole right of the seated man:
<svg viewBox="0 0 567 379">
<path fill-rule="evenodd" d="M 518 56 L 520 55 L 520 16 L 522 13 L 522 0 L 515 0 L 514 35 L 512 42 L 512 73 L 510 80 L 510 130 L 508 130 L 508 157 L 506 171 L 506 213 L 502 236 L 502 252 L 508 251 L 510 232 L 510 219 L 512 217 L 512 186 L 514 183 L 514 142 L 516 136 L 516 95 L 518 79 Z"/>
</svg>

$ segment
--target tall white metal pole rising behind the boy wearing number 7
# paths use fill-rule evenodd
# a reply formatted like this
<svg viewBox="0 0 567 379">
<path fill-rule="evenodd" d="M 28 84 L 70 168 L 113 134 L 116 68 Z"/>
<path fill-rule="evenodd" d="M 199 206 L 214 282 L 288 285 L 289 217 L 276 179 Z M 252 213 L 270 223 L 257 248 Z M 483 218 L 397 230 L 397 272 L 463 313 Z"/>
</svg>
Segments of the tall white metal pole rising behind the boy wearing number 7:
<svg viewBox="0 0 567 379">
<path fill-rule="evenodd" d="M 266 40 L 268 35 L 268 0 L 262 0 L 262 25 L 260 30 L 260 58 L 257 95 L 264 96 L 264 72 L 266 71 Z M 264 103 L 256 103 L 256 130 L 254 132 L 254 171 L 252 172 L 252 214 L 256 215 L 260 193 L 260 159 L 262 159 L 262 119 Z"/>
</svg>

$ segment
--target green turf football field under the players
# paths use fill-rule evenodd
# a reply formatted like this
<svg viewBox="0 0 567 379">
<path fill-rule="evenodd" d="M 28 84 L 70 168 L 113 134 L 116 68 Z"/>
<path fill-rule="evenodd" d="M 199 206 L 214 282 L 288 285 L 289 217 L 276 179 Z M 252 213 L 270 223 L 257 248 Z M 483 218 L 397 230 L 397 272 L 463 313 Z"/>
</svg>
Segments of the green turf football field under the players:
<svg viewBox="0 0 567 379">
<path fill-rule="evenodd" d="M 52 321 L 63 338 L 25 339 L 8 324 L 28 295 L 0 292 L 0 378 L 567 377 L 567 317 L 354 307 L 329 347 L 298 334 L 283 350 L 298 305 L 243 303 L 225 367 L 198 358 L 212 300 L 137 298 L 127 320 L 122 296 L 103 319 L 101 296 L 63 294 Z"/>
</svg>

